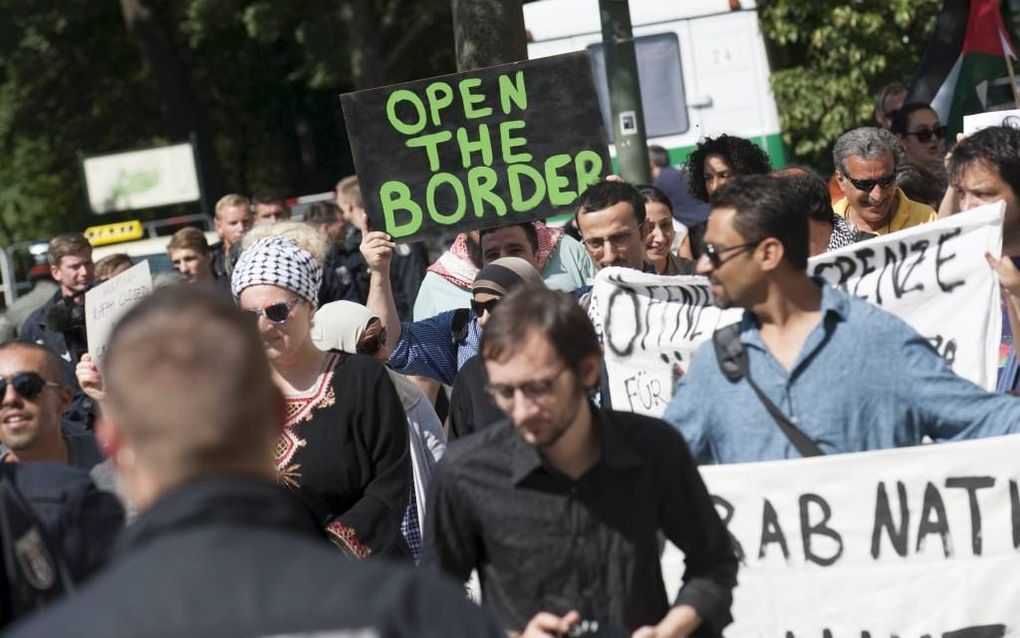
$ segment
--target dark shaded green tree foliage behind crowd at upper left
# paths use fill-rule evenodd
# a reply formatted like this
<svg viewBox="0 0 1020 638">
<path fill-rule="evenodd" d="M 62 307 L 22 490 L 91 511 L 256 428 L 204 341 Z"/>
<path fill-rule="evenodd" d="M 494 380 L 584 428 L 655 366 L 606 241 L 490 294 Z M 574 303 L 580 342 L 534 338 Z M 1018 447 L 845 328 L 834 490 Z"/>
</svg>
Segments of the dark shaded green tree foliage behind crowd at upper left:
<svg viewBox="0 0 1020 638">
<path fill-rule="evenodd" d="M 209 130 L 221 177 L 212 201 L 333 188 L 353 171 L 340 93 L 455 69 L 449 0 L 147 4 Z M 2 247 L 95 223 L 80 153 L 177 140 L 120 3 L 0 0 L 0 15 Z M 365 35 L 358 24 L 375 31 L 354 38 Z M 370 61 L 371 73 L 353 59 Z"/>
</svg>

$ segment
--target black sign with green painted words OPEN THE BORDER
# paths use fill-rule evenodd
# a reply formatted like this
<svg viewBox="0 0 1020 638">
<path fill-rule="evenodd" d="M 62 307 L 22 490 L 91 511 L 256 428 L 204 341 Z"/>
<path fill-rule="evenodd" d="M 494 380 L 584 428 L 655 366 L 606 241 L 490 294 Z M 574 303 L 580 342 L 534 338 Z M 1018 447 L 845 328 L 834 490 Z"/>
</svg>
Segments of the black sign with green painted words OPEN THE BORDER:
<svg viewBox="0 0 1020 638">
<path fill-rule="evenodd" d="M 373 230 L 414 241 L 571 209 L 610 167 L 588 55 L 341 96 Z"/>
</svg>

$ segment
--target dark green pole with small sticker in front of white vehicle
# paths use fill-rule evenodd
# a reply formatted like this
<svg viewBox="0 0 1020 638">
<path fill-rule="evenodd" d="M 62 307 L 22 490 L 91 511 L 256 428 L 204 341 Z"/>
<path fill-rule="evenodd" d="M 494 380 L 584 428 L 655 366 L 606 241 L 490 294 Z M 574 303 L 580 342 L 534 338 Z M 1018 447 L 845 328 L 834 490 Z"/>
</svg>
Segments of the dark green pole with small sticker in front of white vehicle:
<svg viewBox="0 0 1020 638">
<path fill-rule="evenodd" d="M 606 52 L 613 143 L 620 177 L 631 184 L 652 182 L 645 136 L 645 111 L 638 81 L 638 56 L 627 0 L 599 0 L 602 47 Z"/>
</svg>

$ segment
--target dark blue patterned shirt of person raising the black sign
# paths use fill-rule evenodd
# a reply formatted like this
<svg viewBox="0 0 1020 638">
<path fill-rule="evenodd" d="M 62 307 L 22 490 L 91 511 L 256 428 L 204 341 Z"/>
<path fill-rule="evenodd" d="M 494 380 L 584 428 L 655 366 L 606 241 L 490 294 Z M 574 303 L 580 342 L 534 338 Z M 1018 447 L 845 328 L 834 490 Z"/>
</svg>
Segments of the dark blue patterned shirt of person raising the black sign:
<svg viewBox="0 0 1020 638">
<path fill-rule="evenodd" d="M 418 375 L 452 386 L 467 359 L 478 353 L 481 327 L 472 310 L 467 310 L 466 333 L 453 333 L 457 310 L 448 310 L 413 324 L 401 324 L 400 341 L 390 353 L 389 366 L 401 375 Z"/>
</svg>

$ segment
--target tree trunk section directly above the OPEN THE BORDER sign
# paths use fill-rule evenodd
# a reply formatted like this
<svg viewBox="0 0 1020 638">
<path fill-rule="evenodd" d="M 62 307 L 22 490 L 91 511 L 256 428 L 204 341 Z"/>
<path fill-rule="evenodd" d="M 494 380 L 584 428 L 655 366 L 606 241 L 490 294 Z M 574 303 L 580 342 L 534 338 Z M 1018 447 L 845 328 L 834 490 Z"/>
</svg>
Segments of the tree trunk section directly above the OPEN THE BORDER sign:
<svg viewBox="0 0 1020 638">
<path fill-rule="evenodd" d="M 527 59 L 521 0 L 451 0 L 457 70 Z"/>
</svg>

